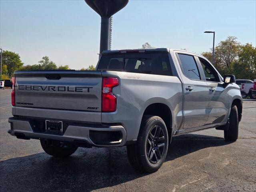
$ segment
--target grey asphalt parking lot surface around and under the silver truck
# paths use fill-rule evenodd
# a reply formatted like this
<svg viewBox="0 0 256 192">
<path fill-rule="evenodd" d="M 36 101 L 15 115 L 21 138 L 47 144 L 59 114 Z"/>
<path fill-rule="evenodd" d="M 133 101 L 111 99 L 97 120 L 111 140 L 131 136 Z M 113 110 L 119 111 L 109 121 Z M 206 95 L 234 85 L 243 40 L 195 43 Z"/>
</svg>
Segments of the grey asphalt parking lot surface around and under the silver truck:
<svg viewBox="0 0 256 192">
<path fill-rule="evenodd" d="M 19 140 L 10 129 L 11 90 L 0 90 L 0 191 L 256 191 L 256 100 L 244 101 L 236 142 L 223 131 L 176 136 L 163 166 L 134 170 L 126 148 L 78 148 L 53 158 L 39 140 Z"/>
</svg>

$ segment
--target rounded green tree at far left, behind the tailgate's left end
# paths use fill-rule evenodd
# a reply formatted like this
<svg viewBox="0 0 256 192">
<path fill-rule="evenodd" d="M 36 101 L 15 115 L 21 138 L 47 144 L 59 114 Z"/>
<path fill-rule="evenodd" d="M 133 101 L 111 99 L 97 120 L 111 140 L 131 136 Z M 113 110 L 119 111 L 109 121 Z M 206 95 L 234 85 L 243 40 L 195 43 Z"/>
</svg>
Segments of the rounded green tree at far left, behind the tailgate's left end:
<svg viewBox="0 0 256 192">
<path fill-rule="evenodd" d="M 7 73 L 8 76 L 13 76 L 14 71 L 19 70 L 23 63 L 20 60 L 19 54 L 15 52 L 11 52 L 8 50 L 4 50 L 2 53 L 2 66 L 6 65 L 7 67 Z"/>
</svg>

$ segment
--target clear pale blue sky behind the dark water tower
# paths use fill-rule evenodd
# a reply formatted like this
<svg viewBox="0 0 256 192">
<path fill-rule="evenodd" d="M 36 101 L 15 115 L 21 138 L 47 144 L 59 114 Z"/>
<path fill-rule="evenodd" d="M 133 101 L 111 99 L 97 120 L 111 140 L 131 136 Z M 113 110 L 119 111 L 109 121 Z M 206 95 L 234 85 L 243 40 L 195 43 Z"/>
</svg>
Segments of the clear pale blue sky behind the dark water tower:
<svg viewBox="0 0 256 192">
<path fill-rule="evenodd" d="M 114 14 L 112 49 L 186 48 L 210 51 L 227 36 L 256 46 L 256 0 L 130 0 Z M 0 47 L 24 65 L 49 56 L 57 66 L 96 66 L 100 16 L 84 0 L 0 0 Z"/>
</svg>

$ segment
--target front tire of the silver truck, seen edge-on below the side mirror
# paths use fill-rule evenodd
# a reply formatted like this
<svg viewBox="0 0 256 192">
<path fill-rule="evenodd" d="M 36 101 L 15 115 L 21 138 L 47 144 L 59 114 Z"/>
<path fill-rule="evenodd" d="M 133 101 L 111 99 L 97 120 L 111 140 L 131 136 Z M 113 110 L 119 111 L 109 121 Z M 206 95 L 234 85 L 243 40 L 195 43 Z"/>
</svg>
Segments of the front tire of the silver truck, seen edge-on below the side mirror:
<svg viewBox="0 0 256 192">
<path fill-rule="evenodd" d="M 224 138 L 227 141 L 236 141 L 238 139 L 238 110 L 235 105 L 232 106 L 229 116 L 230 124 L 228 130 L 224 130 Z"/>
</svg>

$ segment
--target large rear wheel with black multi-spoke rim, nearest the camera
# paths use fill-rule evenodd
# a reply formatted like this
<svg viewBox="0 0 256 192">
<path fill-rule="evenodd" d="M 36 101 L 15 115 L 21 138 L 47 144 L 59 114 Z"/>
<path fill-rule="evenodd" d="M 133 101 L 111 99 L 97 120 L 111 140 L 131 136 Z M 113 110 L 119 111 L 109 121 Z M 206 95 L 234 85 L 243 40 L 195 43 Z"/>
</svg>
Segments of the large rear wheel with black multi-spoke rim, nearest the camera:
<svg viewBox="0 0 256 192">
<path fill-rule="evenodd" d="M 142 172 L 156 172 L 164 163 L 168 150 L 168 131 L 162 118 L 143 116 L 135 144 L 127 146 L 133 168 Z"/>
</svg>

